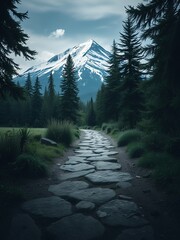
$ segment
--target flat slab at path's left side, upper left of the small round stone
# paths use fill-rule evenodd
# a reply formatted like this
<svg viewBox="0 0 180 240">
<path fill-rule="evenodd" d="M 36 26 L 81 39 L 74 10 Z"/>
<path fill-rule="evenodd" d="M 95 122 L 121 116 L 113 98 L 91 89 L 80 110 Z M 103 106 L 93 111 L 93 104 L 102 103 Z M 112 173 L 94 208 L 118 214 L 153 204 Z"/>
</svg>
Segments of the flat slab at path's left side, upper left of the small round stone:
<svg viewBox="0 0 180 240">
<path fill-rule="evenodd" d="M 49 186 L 48 191 L 57 196 L 68 196 L 77 190 L 88 188 L 89 184 L 83 181 L 66 181 L 57 185 Z"/>
</svg>

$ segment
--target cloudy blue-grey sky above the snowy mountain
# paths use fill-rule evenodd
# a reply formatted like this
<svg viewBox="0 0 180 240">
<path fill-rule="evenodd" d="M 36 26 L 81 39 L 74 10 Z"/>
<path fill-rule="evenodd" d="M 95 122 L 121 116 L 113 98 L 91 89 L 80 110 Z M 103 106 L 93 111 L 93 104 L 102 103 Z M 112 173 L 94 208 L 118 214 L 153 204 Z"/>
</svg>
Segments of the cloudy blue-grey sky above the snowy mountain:
<svg viewBox="0 0 180 240">
<path fill-rule="evenodd" d="M 22 28 L 27 42 L 38 55 L 34 61 L 16 58 L 21 72 L 48 60 L 80 43 L 93 39 L 107 50 L 113 39 L 119 41 L 125 6 L 136 6 L 143 0 L 22 0 L 20 12 L 28 11 L 29 19 Z"/>
</svg>

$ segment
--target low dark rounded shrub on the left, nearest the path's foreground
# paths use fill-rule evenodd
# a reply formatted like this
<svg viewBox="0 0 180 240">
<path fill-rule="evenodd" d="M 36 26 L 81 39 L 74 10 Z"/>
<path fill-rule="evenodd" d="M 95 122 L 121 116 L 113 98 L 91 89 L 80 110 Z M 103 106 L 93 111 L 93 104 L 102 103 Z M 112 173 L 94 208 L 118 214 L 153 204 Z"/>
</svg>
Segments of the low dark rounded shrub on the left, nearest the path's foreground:
<svg viewBox="0 0 180 240">
<path fill-rule="evenodd" d="M 47 175 L 47 164 L 37 156 L 23 153 L 14 162 L 14 171 L 23 177 L 43 177 Z"/>
</svg>

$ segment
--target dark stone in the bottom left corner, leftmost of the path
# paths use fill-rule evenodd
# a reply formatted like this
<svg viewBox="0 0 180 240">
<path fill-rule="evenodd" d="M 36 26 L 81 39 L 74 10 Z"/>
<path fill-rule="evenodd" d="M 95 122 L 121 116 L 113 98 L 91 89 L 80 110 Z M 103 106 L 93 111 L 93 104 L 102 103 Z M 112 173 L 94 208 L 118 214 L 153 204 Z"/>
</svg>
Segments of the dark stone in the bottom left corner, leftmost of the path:
<svg viewBox="0 0 180 240">
<path fill-rule="evenodd" d="M 18 214 L 13 217 L 9 240 L 40 240 L 41 231 L 28 214 Z"/>
</svg>

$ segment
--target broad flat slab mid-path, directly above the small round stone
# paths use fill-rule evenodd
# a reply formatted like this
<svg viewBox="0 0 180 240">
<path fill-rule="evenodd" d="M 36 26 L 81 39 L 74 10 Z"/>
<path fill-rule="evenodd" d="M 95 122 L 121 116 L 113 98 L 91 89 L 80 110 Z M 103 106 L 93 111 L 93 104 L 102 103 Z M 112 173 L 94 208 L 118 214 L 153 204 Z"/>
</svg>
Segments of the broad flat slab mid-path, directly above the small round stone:
<svg viewBox="0 0 180 240">
<path fill-rule="evenodd" d="M 103 204 L 116 195 L 115 191 L 109 188 L 87 188 L 72 192 L 70 197 L 76 200 L 90 201 L 95 204 Z"/>
</svg>

